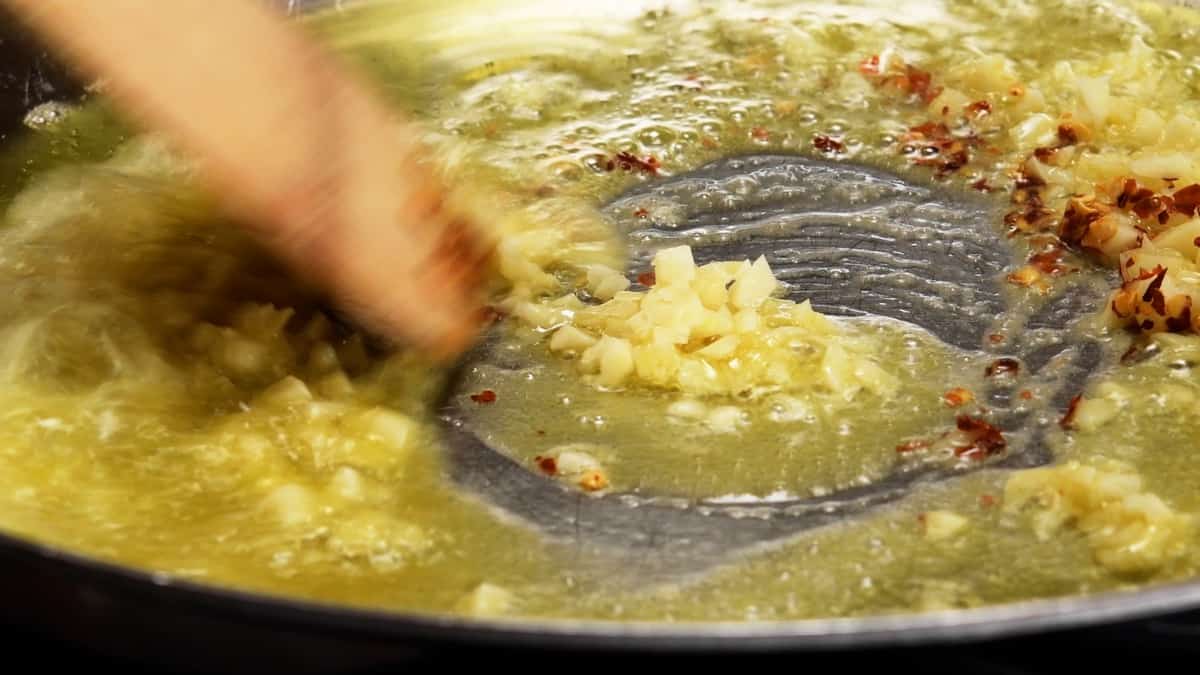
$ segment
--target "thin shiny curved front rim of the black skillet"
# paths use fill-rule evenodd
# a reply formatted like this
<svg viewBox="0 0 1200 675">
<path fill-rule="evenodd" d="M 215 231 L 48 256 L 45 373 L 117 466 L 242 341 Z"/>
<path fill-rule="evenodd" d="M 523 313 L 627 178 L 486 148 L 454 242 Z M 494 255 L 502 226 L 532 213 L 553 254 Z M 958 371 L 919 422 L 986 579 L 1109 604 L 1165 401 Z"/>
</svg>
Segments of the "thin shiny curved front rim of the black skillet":
<svg viewBox="0 0 1200 675">
<path fill-rule="evenodd" d="M 943 613 L 862 619 L 617 622 L 467 619 L 239 590 L 172 579 L 0 532 L 0 560 L 59 566 L 84 586 L 154 595 L 156 602 L 224 619 L 360 640 L 653 652 L 817 651 L 967 644 L 1105 627 L 1200 608 L 1200 581 L 1043 598 Z"/>
</svg>

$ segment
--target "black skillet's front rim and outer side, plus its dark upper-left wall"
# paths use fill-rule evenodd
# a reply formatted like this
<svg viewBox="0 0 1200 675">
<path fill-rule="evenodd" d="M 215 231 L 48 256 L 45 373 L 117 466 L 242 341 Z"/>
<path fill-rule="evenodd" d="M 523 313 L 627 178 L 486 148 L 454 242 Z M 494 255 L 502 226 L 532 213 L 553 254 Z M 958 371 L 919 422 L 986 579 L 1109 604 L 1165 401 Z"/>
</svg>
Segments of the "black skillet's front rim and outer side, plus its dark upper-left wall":
<svg viewBox="0 0 1200 675">
<path fill-rule="evenodd" d="M 326 5 L 288 0 L 292 12 Z M 0 22 L 0 143 L 34 106 L 82 86 L 36 43 Z M 262 671 L 352 670 L 464 646 L 605 652 L 842 651 L 1139 635 L 1195 620 L 1200 580 L 954 613 L 762 623 L 517 623 L 427 617 L 293 601 L 164 580 L 0 534 L 4 616 L 108 652 L 174 665 Z M 1147 622 L 1148 621 L 1148 622 Z M 1130 633 L 1130 627 L 1140 632 Z"/>
</svg>

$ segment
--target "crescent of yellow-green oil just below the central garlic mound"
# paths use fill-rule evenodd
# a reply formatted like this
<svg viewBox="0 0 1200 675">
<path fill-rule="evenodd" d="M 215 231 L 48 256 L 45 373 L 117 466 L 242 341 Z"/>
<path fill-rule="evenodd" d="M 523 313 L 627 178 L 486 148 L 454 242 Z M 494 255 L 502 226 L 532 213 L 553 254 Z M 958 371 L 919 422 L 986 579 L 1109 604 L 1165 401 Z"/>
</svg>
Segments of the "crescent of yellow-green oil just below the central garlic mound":
<svg viewBox="0 0 1200 675">
<path fill-rule="evenodd" d="M 528 345 L 505 354 L 509 368 L 479 365 L 463 382 L 463 392 L 497 392 L 494 404 L 461 405 L 470 411 L 469 423 L 486 430 L 488 444 L 533 471 L 536 458 L 554 448 L 583 444 L 622 492 L 686 500 L 823 496 L 886 477 L 906 461 L 896 446 L 953 426 L 942 400 L 949 389 L 982 392 L 979 356 L 947 350 L 906 324 L 857 328 L 901 375 L 894 396 L 863 393 L 848 406 L 792 396 L 685 399 L 700 406 L 695 416 L 673 413 L 678 395 L 598 390 L 581 382 L 569 362 L 547 359 L 544 347 Z M 511 368 L 512 360 L 527 365 Z M 714 430 L 704 418 L 719 407 L 732 408 L 737 423 Z"/>
</svg>

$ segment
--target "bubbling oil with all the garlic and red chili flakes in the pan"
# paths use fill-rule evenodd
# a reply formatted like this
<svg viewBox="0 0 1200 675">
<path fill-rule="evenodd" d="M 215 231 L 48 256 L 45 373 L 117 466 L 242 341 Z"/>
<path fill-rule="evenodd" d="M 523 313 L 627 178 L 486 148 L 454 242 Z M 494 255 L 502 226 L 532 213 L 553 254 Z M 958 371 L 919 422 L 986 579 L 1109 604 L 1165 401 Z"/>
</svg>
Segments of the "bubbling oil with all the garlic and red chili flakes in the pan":
<svg viewBox="0 0 1200 675">
<path fill-rule="evenodd" d="M 1124 287 L 1078 327 L 1109 371 L 1061 425 L 1040 392 L 1021 393 L 1058 462 L 973 472 L 707 577 L 638 586 L 636 567 L 581 561 L 456 490 L 430 411 L 444 374 L 336 322 L 215 217 L 185 163 L 94 101 L 31 114 L 0 156 L 5 531 L 204 583 L 499 616 L 865 615 L 1196 573 L 1200 473 L 1178 423 L 1200 406 L 1196 16 L 630 2 L 599 18 L 509 5 L 484 22 L 478 4 L 442 5 L 305 25 L 428 123 L 464 199 L 514 207 L 494 223 L 498 328 L 535 366 L 478 369 L 470 405 L 500 434 L 544 423 L 517 456 L 530 471 L 581 498 L 820 496 L 1003 448 L 984 422 L 955 425 L 986 419 L 972 394 L 984 360 L 784 300 L 769 259 L 695 265 L 673 241 L 655 277 L 625 276 L 630 233 L 601 202 L 757 151 L 995 198 L 1018 261 L 1006 287 L 1026 312 L 1121 268 Z"/>
</svg>

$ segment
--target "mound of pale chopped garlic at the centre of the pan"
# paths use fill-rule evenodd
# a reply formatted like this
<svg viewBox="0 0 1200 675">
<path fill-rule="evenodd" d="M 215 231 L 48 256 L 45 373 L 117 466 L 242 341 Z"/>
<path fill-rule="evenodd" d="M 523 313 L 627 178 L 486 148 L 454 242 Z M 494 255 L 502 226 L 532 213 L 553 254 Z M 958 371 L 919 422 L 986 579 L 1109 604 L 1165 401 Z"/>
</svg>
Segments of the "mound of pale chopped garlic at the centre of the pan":
<svg viewBox="0 0 1200 675">
<path fill-rule="evenodd" d="M 611 274 L 590 279 L 601 288 L 619 285 Z M 696 265 L 689 246 L 676 246 L 654 257 L 654 279 L 644 292 L 617 291 L 599 305 L 571 303 L 550 348 L 576 356 L 594 384 L 612 389 L 641 384 L 743 396 L 818 390 L 850 400 L 864 389 L 887 395 L 896 388 L 868 345 L 809 301 L 774 297 L 779 282 L 763 257 Z"/>
</svg>

